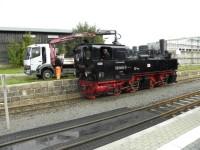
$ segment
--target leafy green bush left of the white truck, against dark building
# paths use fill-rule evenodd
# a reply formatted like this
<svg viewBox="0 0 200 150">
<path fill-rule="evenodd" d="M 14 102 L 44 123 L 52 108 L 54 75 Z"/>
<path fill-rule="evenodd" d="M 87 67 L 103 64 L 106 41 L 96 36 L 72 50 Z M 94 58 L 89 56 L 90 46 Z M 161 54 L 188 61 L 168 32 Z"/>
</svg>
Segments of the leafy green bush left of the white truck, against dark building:
<svg viewBox="0 0 200 150">
<path fill-rule="evenodd" d="M 13 66 L 23 66 L 24 53 L 28 45 L 34 41 L 30 33 L 25 34 L 20 42 L 11 42 L 8 44 L 9 64 Z"/>
</svg>

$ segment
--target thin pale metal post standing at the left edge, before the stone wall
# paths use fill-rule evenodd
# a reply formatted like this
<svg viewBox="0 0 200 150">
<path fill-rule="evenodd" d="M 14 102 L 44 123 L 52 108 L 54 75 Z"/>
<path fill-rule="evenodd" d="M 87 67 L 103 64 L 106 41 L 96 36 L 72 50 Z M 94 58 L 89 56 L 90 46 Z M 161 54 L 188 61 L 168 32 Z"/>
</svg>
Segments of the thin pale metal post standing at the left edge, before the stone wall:
<svg viewBox="0 0 200 150">
<path fill-rule="evenodd" d="M 7 87 L 6 87 L 5 79 L 6 79 L 5 75 L 1 75 L 2 91 L 3 91 L 3 95 L 4 95 L 4 108 L 5 108 L 5 115 L 6 115 L 6 125 L 7 125 L 7 129 L 10 129 L 10 118 L 9 118 L 8 99 L 7 99 Z"/>
</svg>

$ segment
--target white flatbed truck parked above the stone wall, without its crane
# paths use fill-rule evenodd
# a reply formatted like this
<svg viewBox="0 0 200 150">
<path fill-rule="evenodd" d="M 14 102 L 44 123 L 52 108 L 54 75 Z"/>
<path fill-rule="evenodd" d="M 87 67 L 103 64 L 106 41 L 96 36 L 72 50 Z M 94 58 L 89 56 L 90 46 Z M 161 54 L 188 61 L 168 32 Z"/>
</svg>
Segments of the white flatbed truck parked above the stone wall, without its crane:
<svg viewBox="0 0 200 150">
<path fill-rule="evenodd" d="M 38 78 L 49 79 L 54 76 L 55 64 L 53 60 L 57 57 L 63 62 L 63 73 L 73 73 L 73 58 L 60 58 L 52 56 L 52 49 L 49 44 L 33 44 L 27 47 L 24 56 L 24 73 L 27 75 L 35 74 Z M 54 57 L 54 58 L 53 58 Z"/>
</svg>

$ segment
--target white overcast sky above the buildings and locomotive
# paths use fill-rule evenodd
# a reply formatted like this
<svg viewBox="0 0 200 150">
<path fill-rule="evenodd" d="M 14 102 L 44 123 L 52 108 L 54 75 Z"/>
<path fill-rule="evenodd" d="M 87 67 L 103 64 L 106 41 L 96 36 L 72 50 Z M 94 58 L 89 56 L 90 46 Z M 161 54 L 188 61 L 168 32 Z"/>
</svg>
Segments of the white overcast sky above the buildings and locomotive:
<svg viewBox="0 0 200 150">
<path fill-rule="evenodd" d="M 0 27 L 116 29 L 133 46 L 200 36 L 199 0 L 0 0 Z"/>
</svg>

